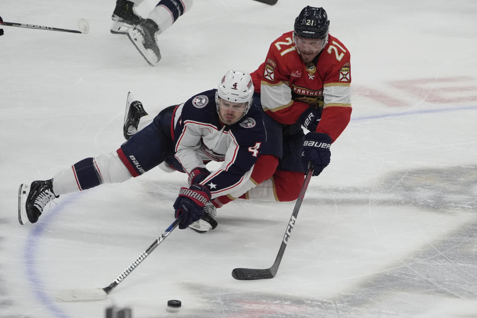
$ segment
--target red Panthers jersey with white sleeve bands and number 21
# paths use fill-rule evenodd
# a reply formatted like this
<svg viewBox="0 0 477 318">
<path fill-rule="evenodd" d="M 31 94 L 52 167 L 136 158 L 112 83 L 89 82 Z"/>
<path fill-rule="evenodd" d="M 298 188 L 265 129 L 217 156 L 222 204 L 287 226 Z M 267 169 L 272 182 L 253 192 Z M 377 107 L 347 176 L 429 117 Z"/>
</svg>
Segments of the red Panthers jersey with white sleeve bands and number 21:
<svg viewBox="0 0 477 318">
<path fill-rule="evenodd" d="M 351 69 L 348 49 L 335 37 L 305 64 L 293 43 L 293 31 L 272 42 L 265 62 L 251 76 L 261 93 L 263 110 L 282 124 L 297 122 L 310 106 L 322 109 L 317 132 L 332 141 L 343 132 L 351 116 Z"/>
</svg>

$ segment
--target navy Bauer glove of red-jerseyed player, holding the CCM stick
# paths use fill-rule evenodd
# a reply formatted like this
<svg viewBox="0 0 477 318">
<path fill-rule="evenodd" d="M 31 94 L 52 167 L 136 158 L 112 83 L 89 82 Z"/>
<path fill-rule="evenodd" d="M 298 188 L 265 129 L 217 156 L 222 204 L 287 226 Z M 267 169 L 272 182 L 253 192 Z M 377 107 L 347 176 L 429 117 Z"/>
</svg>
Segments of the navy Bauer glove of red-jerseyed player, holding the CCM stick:
<svg viewBox="0 0 477 318">
<path fill-rule="evenodd" d="M 329 164 L 331 153 L 331 138 L 323 133 L 308 133 L 303 143 L 302 163 L 305 171 L 308 170 L 308 162 L 313 162 L 313 175 L 318 175 Z"/>
</svg>

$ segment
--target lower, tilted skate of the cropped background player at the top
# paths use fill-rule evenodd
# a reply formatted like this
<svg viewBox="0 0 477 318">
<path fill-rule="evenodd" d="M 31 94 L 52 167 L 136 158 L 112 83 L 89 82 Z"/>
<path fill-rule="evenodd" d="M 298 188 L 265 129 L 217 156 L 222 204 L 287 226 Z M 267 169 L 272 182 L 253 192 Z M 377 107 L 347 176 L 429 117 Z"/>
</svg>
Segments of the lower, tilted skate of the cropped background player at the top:
<svg viewBox="0 0 477 318">
<path fill-rule="evenodd" d="M 158 25 L 151 19 L 146 19 L 128 32 L 131 42 L 151 66 L 160 60 L 159 47 L 156 43 L 156 34 L 159 33 Z"/>
</svg>

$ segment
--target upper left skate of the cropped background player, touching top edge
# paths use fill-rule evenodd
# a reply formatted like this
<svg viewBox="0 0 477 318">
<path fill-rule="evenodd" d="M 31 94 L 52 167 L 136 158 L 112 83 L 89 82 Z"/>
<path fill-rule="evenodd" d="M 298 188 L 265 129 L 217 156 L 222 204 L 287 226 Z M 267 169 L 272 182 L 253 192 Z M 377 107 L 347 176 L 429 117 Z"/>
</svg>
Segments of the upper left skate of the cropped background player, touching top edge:
<svg viewBox="0 0 477 318">
<path fill-rule="evenodd" d="M 117 0 L 114 12 L 111 15 L 114 21 L 111 25 L 111 33 L 126 34 L 133 27 L 144 21 L 134 10 L 134 3 L 128 0 Z"/>
</svg>

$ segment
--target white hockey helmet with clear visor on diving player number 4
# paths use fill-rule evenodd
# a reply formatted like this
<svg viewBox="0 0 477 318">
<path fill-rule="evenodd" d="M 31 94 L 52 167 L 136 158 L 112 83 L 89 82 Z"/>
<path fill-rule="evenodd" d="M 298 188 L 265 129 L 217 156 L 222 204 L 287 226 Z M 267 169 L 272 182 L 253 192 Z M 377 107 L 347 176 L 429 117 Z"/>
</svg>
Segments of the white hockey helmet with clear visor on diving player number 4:
<svg viewBox="0 0 477 318">
<path fill-rule="evenodd" d="M 229 70 L 219 82 L 215 93 L 215 103 L 219 111 L 219 98 L 234 103 L 247 103 L 243 115 L 245 115 L 253 99 L 253 82 L 250 74 L 241 71 Z"/>
</svg>

